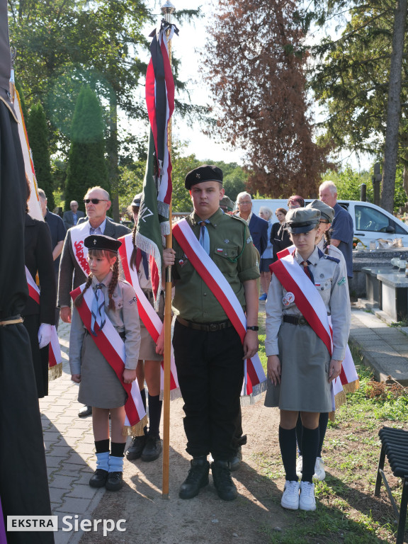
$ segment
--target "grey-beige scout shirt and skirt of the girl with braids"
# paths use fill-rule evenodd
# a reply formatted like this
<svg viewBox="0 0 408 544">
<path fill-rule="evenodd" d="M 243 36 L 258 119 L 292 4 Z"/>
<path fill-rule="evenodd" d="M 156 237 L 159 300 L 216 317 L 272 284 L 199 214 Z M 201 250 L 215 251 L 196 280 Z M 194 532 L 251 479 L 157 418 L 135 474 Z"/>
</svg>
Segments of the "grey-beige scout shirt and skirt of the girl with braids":
<svg viewBox="0 0 408 544">
<path fill-rule="evenodd" d="M 139 313 L 135 291 L 127 281 L 118 280 L 118 285 L 113 291 L 115 310 L 109 310 L 107 285 L 111 278 L 112 273 L 109 273 L 103 280 L 105 313 L 116 331 L 125 339 L 125 368 L 134 370 L 137 367 L 140 348 Z M 97 283 L 98 280 L 92 278 L 90 288 L 95 290 Z M 116 408 L 125 404 L 127 394 L 123 386 L 111 365 L 96 347 L 91 334 L 86 331 L 75 306 L 69 336 L 69 366 L 72 374 L 81 374 L 79 402 L 96 408 Z"/>
</svg>

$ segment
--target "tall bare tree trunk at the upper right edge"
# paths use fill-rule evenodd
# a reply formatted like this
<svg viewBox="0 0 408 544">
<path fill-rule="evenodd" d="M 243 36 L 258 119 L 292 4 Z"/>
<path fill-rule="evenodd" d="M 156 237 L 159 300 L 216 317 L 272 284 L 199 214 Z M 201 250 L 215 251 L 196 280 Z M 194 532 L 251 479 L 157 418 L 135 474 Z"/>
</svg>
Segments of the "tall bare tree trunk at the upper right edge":
<svg viewBox="0 0 408 544">
<path fill-rule="evenodd" d="M 392 34 L 390 86 L 387 101 L 387 130 L 385 133 L 384 168 L 382 170 L 381 206 L 394 209 L 395 172 L 397 170 L 398 129 L 401 115 L 402 52 L 404 50 L 407 0 L 397 0 Z"/>
</svg>

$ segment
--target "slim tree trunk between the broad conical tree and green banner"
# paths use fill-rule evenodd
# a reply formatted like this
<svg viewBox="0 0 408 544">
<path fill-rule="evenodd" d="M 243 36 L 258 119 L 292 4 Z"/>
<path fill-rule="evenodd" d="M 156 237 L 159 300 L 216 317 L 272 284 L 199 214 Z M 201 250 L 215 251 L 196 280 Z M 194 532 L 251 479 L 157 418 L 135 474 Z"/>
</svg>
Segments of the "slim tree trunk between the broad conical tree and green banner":
<svg viewBox="0 0 408 544">
<path fill-rule="evenodd" d="M 109 103 L 109 136 L 106 142 L 108 152 L 108 179 L 111 186 L 111 200 L 113 220 L 119 222 L 119 194 L 118 194 L 118 102 L 115 91 L 111 91 Z"/>
</svg>

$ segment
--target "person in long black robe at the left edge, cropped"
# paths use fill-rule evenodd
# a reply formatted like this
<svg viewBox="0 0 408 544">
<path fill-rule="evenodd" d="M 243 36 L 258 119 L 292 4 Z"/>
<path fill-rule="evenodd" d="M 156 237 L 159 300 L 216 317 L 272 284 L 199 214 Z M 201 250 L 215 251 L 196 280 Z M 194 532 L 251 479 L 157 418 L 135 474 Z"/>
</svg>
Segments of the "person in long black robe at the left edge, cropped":
<svg viewBox="0 0 408 544">
<path fill-rule="evenodd" d="M 0 499 L 7 516 L 50 516 L 30 339 L 21 320 L 26 175 L 9 95 L 7 0 L 0 0 Z M 1 513 L 0 513 L 1 515 Z M 8 544 L 52 544 L 54 533 L 7 532 Z"/>
</svg>

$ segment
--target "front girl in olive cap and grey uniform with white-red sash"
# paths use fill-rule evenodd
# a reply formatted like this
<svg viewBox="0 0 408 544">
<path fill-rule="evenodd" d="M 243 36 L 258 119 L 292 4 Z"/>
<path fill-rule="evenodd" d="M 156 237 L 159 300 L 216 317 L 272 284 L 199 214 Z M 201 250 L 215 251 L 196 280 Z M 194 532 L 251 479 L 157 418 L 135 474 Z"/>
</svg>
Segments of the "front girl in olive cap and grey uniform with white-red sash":
<svg viewBox="0 0 408 544">
<path fill-rule="evenodd" d="M 344 266 L 315 245 L 320 217 L 314 208 L 289 210 L 286 227 L 296 249 L 271 265 L 266 300 L 265 405 L 280 409 L 279 445 L 286 480 L 280 504 L 292 510 L 316 509 L 312 477 L 319 448 L 319 415 L 331 412 L 331 382 L 341 372 L 350 327 Z M 303 424 L 301 482 L 296 474 L 299 413 Z"/>
</svg>

